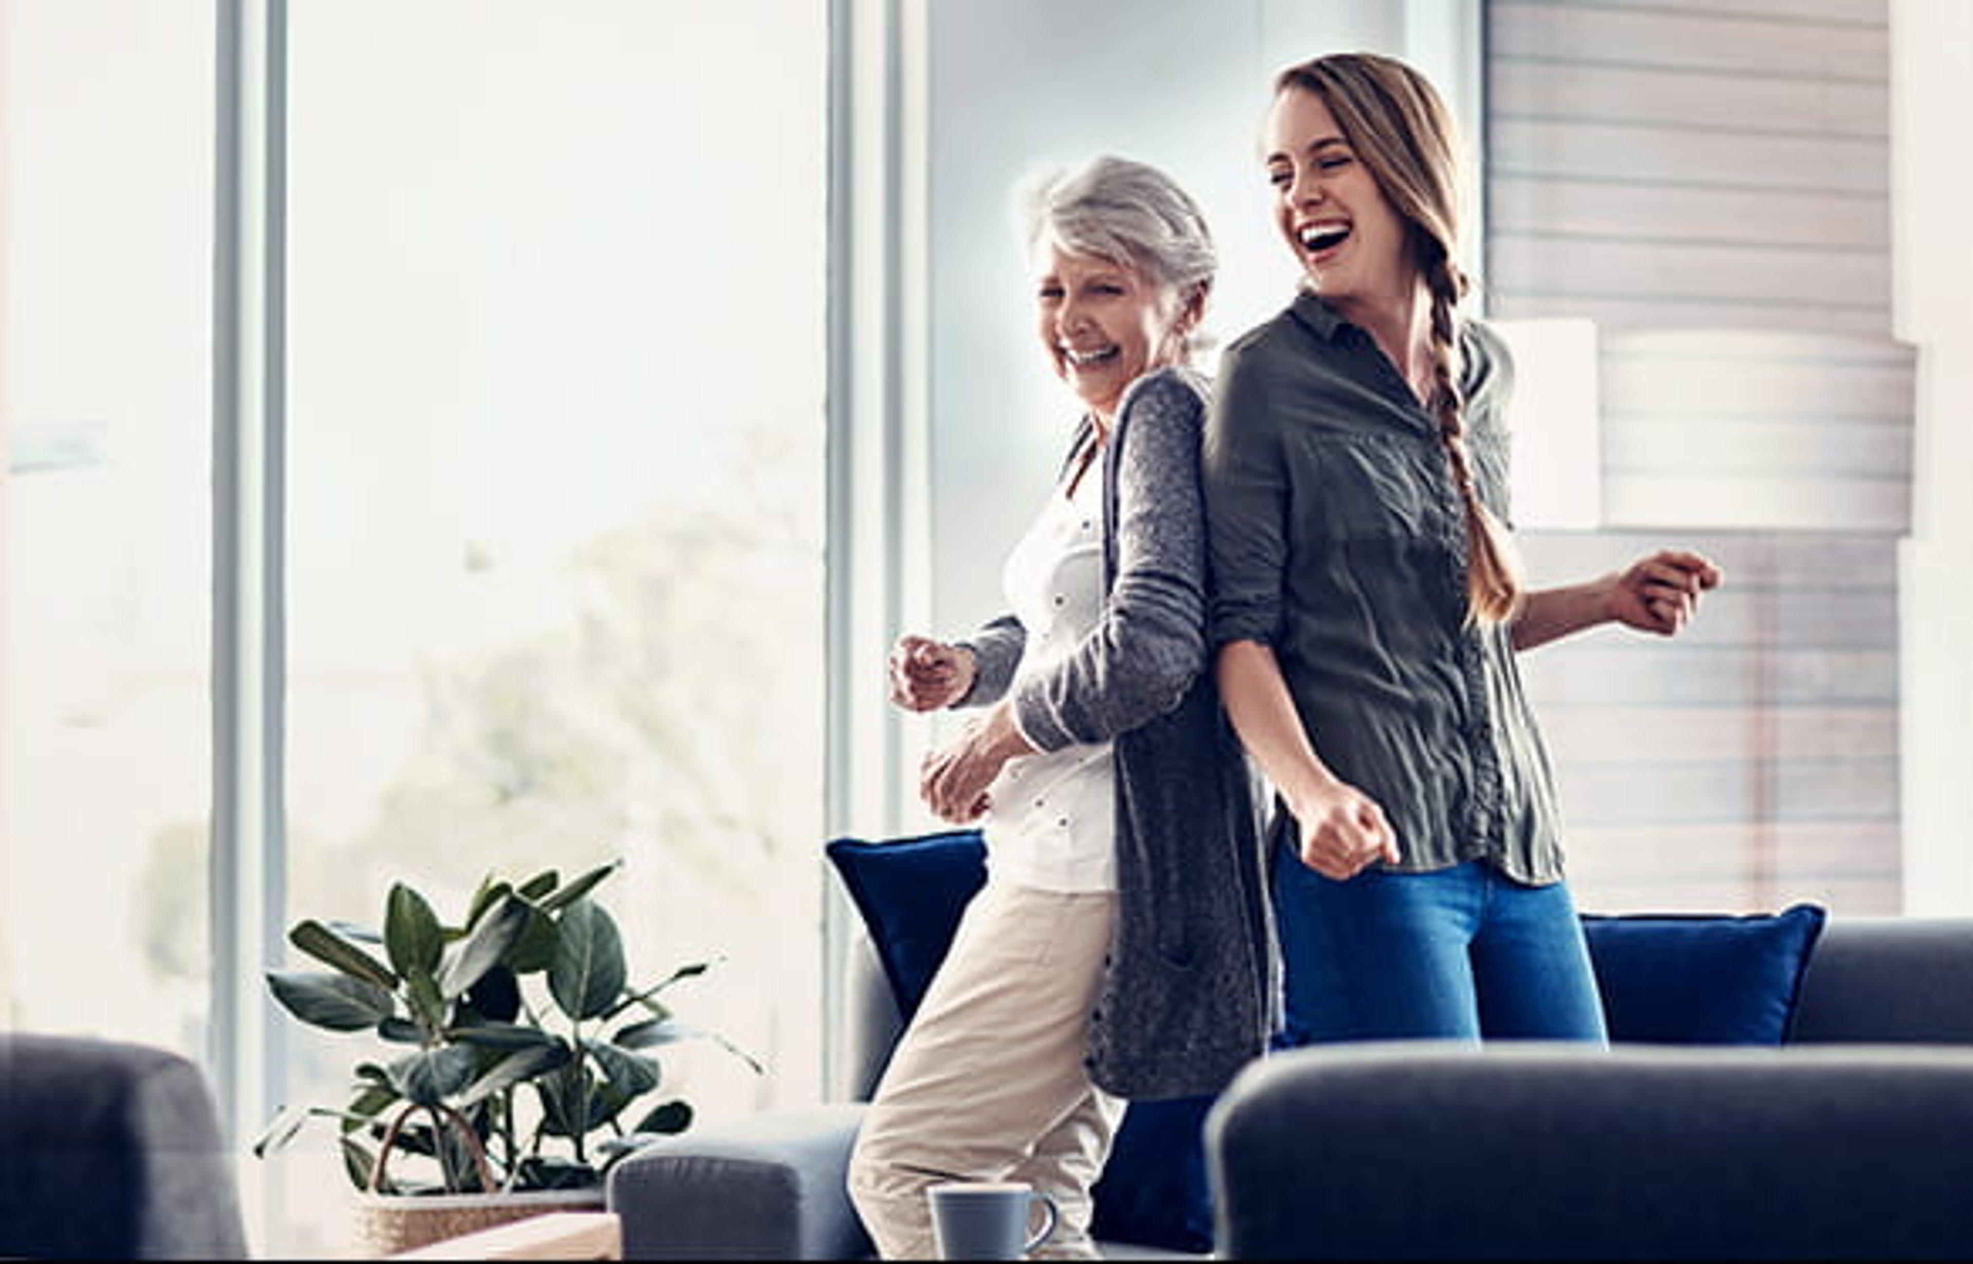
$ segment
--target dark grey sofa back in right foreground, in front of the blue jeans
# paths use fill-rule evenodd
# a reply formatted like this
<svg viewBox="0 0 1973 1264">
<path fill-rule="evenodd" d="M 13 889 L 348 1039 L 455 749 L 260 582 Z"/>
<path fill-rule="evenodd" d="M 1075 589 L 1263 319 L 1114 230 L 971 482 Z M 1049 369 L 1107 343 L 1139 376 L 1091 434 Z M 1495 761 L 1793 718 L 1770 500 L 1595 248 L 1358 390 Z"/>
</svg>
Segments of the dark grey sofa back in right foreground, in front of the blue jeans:
<svg viewBox="0 0 1973 1264">
<path fill-rule="evenodd" d="M 1973 1252 L 1973 1049 L 1365 1043 L 1207 1116 L 1225 1258 Z"/>
</svg>

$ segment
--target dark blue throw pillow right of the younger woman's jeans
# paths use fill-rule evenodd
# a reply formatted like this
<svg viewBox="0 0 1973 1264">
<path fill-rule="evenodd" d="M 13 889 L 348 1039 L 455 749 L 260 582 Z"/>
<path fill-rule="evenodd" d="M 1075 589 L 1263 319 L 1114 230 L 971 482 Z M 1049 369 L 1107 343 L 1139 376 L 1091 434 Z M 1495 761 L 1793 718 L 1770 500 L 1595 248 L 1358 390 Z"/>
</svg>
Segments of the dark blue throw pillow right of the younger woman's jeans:
<svg viewBox="0 0 1973 1264">
<path fill-rule="evenodd" d="M 1612 1041 L 1780 1045 L 1825 911 L 1584 913 Z"/>
</svg>

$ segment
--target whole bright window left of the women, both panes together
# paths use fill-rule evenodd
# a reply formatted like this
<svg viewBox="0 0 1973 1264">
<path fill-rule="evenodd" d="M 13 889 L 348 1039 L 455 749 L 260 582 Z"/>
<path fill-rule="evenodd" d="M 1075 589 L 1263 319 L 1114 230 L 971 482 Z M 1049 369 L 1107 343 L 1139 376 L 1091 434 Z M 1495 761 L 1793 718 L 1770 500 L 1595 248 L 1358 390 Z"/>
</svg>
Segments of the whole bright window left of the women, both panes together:
<svg viewBox="0 0 1973 1264">
<path fill-rule="evenodd" d="M 237 576 L 211 278 L 262 225 L 215 217 L 233 10 L 0 0 L 6 1025 L 235 1039 L 213 787 L 266 769 L 286 810 L 217 838 L 272 858 L 245 870 L 284 878 L 280 929 L 621 860 L 635 980 L 710 962 L 667 1000 L 766 1067 L 675 1045 L 667 1088 L 819 1098 L 827 4 L 249 10 L 286 34 L 249 53 L 284 110 L 247 174 L 282 264 L 253 365 L 278 566 Z M 213 655 L 256 641 L 215 635 L 215 576 L 280 580 L 280 724 L 231 773 Z M 363 1037 L 274 1023 L 282 1096 L 339 1102 Z M 256 1250 L 347 1252 L 328 1136 L 243 1177 Z"/>
</svg>

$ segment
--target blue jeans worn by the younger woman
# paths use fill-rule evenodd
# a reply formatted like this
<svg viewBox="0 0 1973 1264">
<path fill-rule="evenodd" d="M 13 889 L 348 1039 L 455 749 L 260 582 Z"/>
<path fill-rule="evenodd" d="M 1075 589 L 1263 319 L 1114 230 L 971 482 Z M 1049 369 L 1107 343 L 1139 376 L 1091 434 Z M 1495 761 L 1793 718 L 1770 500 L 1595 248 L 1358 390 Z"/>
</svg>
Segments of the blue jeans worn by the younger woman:
<svg viewBox="0 0 1973 1264">
<path fill-rule="evenodd" d="M 1484 862 L 1334 881 L 1277 846 L 1275 909 L 1288 1010 L 1280 1045 L 1608 1041 L 1565 883 L 1523 885 Z"/>
</svg>

